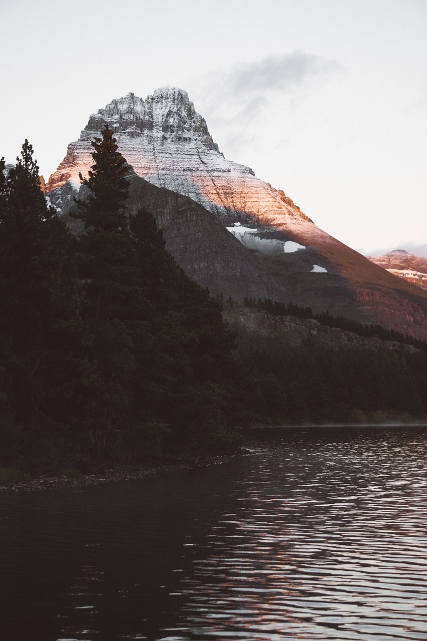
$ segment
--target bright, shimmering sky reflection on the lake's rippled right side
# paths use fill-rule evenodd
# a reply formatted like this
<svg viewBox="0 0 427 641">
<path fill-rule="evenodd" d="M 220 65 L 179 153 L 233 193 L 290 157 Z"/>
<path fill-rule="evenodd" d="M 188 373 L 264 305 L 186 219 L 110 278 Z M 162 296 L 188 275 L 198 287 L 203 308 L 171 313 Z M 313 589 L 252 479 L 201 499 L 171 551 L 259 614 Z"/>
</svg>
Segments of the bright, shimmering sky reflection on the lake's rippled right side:
<svg viewBox="0 0 427 641">
<path fill-rule="evenodd" d="M 406 437 L 260 451 L 163 641 L 427 638 L 426 441 Z"/>
</svg>

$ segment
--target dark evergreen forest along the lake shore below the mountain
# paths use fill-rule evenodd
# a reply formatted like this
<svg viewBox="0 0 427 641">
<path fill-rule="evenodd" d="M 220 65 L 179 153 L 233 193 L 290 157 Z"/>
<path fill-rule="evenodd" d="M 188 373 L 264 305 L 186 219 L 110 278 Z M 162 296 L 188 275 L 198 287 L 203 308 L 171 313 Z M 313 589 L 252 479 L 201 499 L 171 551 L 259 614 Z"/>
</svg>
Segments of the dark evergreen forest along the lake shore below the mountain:
<svg viewBox="0 0 427 641">
<path fill-rule="evenodd" d="M 236 335 L 166 251 L 153 216 L 126 212 L 129 167 L 108 126 L 92 146 L 81 177 L 90 195 L 72 213 L 78 236 L 47 204 L 27 140 L 7 175 L 0 161 L 0 465 L 58 474 L 200 460 L 235 451 L 254 422 L 425 417 L 425 342 L 247 300 L 414 349 L 353 353 Z"/>
</svg>

